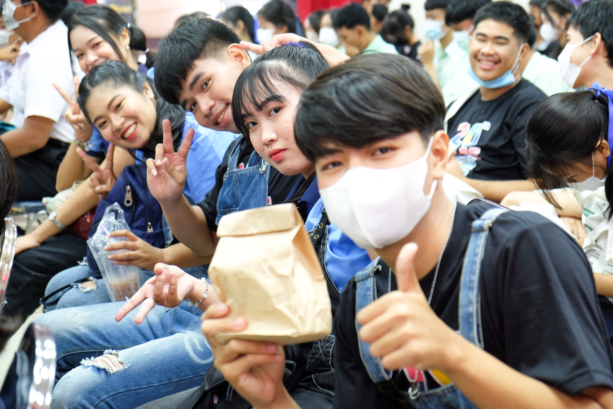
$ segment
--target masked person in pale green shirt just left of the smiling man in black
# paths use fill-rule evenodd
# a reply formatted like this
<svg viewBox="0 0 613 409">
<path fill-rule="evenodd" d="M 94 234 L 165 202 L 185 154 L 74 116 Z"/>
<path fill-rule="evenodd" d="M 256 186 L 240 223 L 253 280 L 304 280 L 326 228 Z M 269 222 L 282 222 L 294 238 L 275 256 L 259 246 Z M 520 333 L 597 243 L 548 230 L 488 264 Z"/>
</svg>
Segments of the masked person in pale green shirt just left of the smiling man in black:
<svg viewBox="0 0 613 409">
<path fill-rule="evenodd" d="M 425 40 L 417 50 L 420 56 L 419 61 L 424 64 L 424 68 L 435 83 L 438 83 L 447 105 L 478 86 L 468 75 L 470 62 L 468 61 L 467 39 L 474 12 L 479 8 L 474 8 L 474 4 L 489 1 L 457 1 L 457 7 L 454 8 L 455 13 L 466 17 L 460 17 L 459 21 L 454 21 L 455 28 L 447 23 L 446 8 L 452 2 L 449 0 L 427 0 L 425 2 L 425 36 L 428 40 Z M 456 29 L 462 34 L 457 34 Z"/>
</svg>

